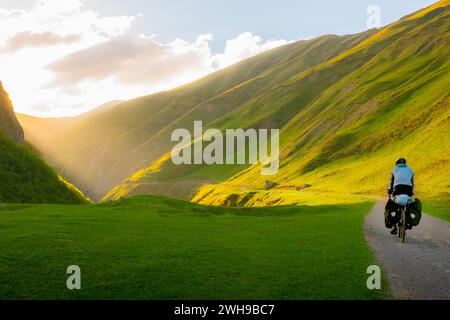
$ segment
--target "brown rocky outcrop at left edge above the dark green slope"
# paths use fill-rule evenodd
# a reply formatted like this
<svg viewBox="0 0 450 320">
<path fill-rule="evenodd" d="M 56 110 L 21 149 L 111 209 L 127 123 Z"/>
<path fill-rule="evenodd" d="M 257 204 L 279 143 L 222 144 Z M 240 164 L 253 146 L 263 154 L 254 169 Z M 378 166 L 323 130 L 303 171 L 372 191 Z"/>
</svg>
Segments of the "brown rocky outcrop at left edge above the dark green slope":
<svg viewBox="0 0 450 320">
<path fill-rule="evenodd" d="M 3 88 L 3 84 L 0 81 L 0 132 L 7 137 L 13 139 L 19 144 L 23 144 L 24 133 L 17 121 L 16 114 L 9 99 L 8 93 Z"/>
</svg>

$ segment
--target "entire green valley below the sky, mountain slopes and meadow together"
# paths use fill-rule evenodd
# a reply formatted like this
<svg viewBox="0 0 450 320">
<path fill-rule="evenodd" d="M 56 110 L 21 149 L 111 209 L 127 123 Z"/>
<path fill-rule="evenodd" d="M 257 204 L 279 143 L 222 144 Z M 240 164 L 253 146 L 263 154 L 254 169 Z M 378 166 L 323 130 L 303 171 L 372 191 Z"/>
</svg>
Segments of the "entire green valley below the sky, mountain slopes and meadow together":
<svg viewBox="0 0 450 320">
<path fill-rule="evenodd" d="M 448 57 L 441 0 L 72 117 L 16 114 L 0 82 L 0 299 L 444 296 Z M 405 251 L 383 224 L 399 157 L 434 216 Z M 437 271 L 404 289 L 397 258 Z"/>
</svg>

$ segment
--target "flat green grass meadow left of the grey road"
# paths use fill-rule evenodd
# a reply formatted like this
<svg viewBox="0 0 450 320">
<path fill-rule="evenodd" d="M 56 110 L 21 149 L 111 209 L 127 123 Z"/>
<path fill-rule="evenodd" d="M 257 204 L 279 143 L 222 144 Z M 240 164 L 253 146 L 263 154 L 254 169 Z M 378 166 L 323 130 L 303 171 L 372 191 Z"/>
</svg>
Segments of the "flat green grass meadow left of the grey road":
<svg viewBox="0 0 450 320">
<path fill-rule="evenodd" d="M 1 205 L 2 299 L 377 299 L 372 203 L 205 207 L 155 196 Z M 66 289 L 81 267 L 82 289 Z"/>
</svg>

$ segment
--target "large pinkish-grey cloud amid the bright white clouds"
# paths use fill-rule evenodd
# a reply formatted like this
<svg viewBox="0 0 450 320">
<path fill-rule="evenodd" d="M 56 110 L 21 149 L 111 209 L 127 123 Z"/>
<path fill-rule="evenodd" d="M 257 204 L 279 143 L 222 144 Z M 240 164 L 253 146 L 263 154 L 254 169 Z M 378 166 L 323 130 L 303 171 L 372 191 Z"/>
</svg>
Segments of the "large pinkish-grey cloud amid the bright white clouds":
<svg viewBox="0 0 450 320">
<path fill-rule="evenodd" d="M 211 71 L 209 40 L 201 35 L 194 43 L 177 39 L 164 44 L 154 37 L 114 38 L 51 63 L 52 86 L 67 89 L 108 78 L 148 88 L 180 84 Z"/>
</svg>

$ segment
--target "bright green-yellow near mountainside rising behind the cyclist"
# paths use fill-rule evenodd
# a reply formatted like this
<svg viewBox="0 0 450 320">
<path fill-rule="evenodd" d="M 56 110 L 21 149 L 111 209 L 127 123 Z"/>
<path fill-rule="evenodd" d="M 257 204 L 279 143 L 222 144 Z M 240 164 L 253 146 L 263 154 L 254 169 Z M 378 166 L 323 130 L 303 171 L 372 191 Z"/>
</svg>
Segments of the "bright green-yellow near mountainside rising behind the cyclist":
<svg viewBox="0 0 450 320">
<path fill-rule="evenodd" d="M 268 177 L 257 165 L 174 166 L 166 154 L 105 199 L 146 192 L 189 197 L 186 190 L 208 181 L 220 183 L 203 186 L 194 201 L 290 203 L 302 194 L 289 191 L 302 185 L 381 194 L 399 156 L 415 168 L 419 194 L 448 197 L 449 11 L 449 1 L 440 1 L 263 91 L 252 91 L 258 78 L 217 97 L 223 105 L 229 93 L 248 99 L 213 127 L 282 129 L 281 168 L 269 178 L 279 193 L 264 191 Z"/>
</svg>

